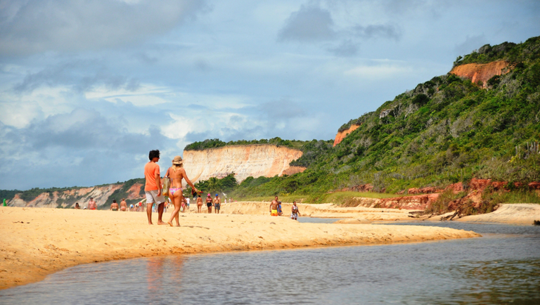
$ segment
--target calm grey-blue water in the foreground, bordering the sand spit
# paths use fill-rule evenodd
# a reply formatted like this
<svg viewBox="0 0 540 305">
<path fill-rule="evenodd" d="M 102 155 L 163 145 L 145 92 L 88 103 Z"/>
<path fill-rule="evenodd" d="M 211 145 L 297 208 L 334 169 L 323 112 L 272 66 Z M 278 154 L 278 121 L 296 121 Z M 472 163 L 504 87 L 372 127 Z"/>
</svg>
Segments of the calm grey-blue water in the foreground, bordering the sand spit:
<svg viewBox="0 0 540 305">
<path fill-rule="evenodd" d="M 0 303 L 540 304 L 540 227 L 415 224 L 484 237 L 88 264 L 2 290 Z"/>
</svg>

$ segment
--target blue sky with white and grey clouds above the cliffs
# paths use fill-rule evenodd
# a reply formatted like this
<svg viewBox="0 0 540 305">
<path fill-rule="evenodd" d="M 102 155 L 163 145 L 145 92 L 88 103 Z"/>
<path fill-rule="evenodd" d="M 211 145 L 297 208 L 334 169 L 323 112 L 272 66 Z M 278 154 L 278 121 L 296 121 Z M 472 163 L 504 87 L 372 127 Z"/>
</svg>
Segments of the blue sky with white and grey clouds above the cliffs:
<svg viewBox="0 0 540 305">
<path fill-rule="evenodd" d="M 540 1 L 0 0 L 0 189 L 164 171 L 188 143 L 328 140 Z"/>
</svg>

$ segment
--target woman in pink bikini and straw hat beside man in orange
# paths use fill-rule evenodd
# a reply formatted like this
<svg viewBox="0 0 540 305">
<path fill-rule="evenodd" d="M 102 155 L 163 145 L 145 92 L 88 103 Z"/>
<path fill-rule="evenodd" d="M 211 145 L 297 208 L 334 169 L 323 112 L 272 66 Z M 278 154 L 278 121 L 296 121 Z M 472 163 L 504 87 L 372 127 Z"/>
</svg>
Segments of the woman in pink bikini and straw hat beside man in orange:
<svg viewBox="0 0 540 305">
<path fill-rule="evenodd" d="M 169 167 L 169 169 L 167 169 L 167 173 L 165 174 L 165 176 L 171 179 L 169 197 L 174 204 L 174 211 L 171 214 L 171 219 L 169 219 L 167 223 L 169 223 L 169 226 L 172 226 L 172 219 L 176 219 L 176 226 L 180 226 L 178 213 L 180 212 L 180 207 L 182 201 L 184 200 L 184 195 L 182 195 L 182 179 L 185 179 L 186 183 L 188 183 L 193 188 L 193 190 L 198 190 L 188 179 L 188 175 L 186 174 L 186 170 L 184 169 L 182 157 L 180 156 L 174 157 L 174 159 L 172 160 L 172 167 Z"/>
</svg>

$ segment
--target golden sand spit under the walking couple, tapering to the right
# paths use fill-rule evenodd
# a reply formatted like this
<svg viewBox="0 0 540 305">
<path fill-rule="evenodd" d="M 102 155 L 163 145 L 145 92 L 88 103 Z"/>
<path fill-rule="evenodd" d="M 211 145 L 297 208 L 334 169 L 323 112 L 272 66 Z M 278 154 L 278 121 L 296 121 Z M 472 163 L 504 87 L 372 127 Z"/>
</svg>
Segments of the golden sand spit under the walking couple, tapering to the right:
<svg viewBox="0 0 540 305">
<path fill-rule="evenodd" d="M 165 215 L 167 219 L 169 212 Z M 153 220 L 157 222 L 157 214 Z M 0 207 L 0 289 L 36 282 L 70 266 L 113 259 L 480 236 L 451 228 L 299 223 L 250 214 L 188 213 L 180 222 L 179 228 L 148 226 L 141 212 Z"/>
</svg>

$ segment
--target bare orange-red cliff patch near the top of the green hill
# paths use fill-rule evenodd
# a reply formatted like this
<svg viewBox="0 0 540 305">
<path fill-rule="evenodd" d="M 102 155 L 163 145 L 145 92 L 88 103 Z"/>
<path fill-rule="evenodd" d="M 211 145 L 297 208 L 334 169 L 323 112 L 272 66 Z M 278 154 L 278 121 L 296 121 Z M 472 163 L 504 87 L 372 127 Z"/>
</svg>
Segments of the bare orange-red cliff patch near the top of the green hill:
<svg viewBox="0 0 540 305">
<path fill-rule="evenodd" d="M 458 77 L 465 77 L 471 82 L 482 82 L 482 87 L 486 88 L 488 79 L 495 75 L 506 74 L 510 71 L 508 62 L 505 60 L 494 61 L 492 63 L 468 63 L 454 67 L 450 74 L 456 74 Z"/>
</svg>

